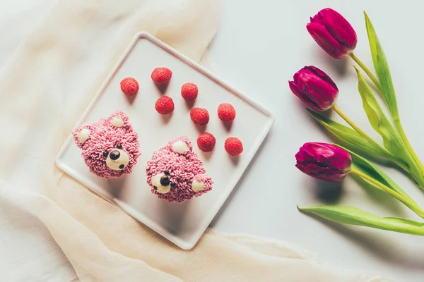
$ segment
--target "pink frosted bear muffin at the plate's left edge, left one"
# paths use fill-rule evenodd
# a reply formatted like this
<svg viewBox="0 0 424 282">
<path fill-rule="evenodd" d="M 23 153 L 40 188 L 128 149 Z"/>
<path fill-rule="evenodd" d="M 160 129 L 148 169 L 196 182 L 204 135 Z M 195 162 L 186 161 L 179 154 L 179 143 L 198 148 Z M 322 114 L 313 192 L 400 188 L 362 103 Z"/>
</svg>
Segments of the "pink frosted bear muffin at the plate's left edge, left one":
<svg viewBox="0 0 424 282">
<path fill-rule="evenodd" d="M 99 177 L 119 178 L 131 173 L 140 156 L 139 135 L 122 111 L 79 125 L 72 134 L 90 172 Z"/>
</svg>

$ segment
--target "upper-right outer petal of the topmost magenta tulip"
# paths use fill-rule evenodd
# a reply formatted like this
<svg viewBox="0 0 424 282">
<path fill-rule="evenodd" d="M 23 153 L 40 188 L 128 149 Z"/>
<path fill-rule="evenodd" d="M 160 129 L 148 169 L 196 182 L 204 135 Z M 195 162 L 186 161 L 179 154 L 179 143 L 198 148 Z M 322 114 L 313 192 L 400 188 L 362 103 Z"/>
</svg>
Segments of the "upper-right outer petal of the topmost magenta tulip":
<svg viewBox="0 0 424 282">
<path fill-rule="evenodd" d="M 319 23 L 326 27 L 334 39 L 349 53 L 355 49 L 358 37 L 352 25 L 340 13 L 331 8 L 324 8 L 317 14 Z"/>
</svg>

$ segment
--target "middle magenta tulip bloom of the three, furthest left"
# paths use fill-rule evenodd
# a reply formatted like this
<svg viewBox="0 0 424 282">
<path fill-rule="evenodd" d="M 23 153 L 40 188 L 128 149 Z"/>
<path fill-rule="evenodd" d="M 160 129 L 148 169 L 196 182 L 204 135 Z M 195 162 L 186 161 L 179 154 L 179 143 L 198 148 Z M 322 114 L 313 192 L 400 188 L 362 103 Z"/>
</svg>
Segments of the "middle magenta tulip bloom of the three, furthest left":
<svg viewBox="0 0 424 282">
<path fill-rule="evenodd" d="M 324 71 L 305 66 L 289 81 L 290 90 L 312 111 L 326 111 L 336 102 L 338 88 Z"/>
</svg>

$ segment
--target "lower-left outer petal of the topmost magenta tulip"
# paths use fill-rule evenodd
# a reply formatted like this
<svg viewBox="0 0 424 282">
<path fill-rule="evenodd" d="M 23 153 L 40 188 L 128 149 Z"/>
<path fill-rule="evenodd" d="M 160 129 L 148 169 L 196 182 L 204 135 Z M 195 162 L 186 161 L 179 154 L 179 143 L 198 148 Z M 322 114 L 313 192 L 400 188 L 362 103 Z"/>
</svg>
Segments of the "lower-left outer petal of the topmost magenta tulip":
<svg viewBox="0 0 424 282">
<path fill-rule="evenodd" d="M 326 30 L 324 25 L 319 23 L 308 23 L 306 25 L 307 31 L 318 45 L 326 51 L 327 54 L 335 59 L 341 59 L 346 56 L 343 51 L 343 46 Z"/>
</svg>

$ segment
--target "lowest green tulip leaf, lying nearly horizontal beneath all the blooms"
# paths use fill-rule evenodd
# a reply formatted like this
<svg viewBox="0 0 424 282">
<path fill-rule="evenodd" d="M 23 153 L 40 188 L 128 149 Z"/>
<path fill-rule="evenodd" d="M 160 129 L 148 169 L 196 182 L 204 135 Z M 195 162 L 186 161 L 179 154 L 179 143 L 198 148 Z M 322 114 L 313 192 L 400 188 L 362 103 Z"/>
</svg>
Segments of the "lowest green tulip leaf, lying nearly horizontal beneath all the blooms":
<svg viewBox="0 0 424 282">
<path fill-rule="evenodd" d="M 424 223 L 397 217 L 380 217 L 356 207 L 316 206 L 298 209 L 337 223 L 424 236 Z"/>
</svg>

